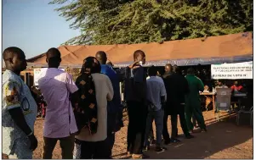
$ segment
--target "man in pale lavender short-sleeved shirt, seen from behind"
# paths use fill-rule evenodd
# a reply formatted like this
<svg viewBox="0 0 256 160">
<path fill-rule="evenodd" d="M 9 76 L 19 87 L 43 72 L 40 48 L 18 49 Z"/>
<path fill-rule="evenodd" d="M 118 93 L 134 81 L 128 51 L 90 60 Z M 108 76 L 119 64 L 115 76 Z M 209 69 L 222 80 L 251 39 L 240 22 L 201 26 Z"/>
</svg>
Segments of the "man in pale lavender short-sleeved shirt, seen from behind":
<svg viewBox="0 0 256 160">
<path fill-rule="evenodd" d="M 71 106 L 77 86 L 70 74 L 58 69 L 61 58 L 57 48 L 46 53 L 48 69 L 43 71 L 38 86 L 47 102 L 43 128 L 43 159 L 51 159 L 54 147 L 60 140 L 62 158 L 72 159 L 77 123 Z M 70 100 L 71 98 L 71 100 Z"/>
</svg>

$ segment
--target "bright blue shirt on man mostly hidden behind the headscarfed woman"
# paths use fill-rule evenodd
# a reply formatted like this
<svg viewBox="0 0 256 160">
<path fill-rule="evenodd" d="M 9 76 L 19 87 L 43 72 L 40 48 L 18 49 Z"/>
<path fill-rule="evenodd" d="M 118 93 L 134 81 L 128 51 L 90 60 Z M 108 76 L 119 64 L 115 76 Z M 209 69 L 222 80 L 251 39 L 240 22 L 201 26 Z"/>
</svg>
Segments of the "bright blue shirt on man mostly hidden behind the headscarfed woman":
<svg viewBox="0 0 256 160">
<path fill-rule="evenodd" d="M 120 86 L 117 72 L 109 65 L 101 64 L 101 74 L 106 74 L 109 77 L 114 90 L 114 97 L 112 101 L 107 103 L 108 113 L 117 113 L 122 111 Z"/>
</svg>

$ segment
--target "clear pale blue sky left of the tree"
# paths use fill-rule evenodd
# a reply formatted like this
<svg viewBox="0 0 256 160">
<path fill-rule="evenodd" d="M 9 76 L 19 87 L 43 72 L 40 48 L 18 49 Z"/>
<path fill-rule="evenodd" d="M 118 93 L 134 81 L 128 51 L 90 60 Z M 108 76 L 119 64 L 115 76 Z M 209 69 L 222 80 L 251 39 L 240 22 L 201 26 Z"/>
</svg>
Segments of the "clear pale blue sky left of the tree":
<svg viewBox="0 0 256 160">
<path fill-rule="evenodd" d="M 79 36 L 71 22 L 60 17 L 50 0 L 3 0 L 3 50 L 20 47 L 26 58 L 47 52 L 50 47 Z M 3 51 L 2 51 L 3 52 Z"/>
</svg>

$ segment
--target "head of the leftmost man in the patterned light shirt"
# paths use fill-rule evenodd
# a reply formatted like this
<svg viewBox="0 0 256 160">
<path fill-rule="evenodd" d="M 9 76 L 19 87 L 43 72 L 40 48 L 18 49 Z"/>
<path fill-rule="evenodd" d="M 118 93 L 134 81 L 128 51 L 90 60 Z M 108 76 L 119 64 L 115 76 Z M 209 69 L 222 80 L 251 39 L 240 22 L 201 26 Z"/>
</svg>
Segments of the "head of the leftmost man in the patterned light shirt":
<svg viewBox="0 0 256 160">
<path fill-rule="evenodd" d="M 26 56 L 19 47 L 8 47 L 3 51 L 3 60 L 6 69 L 14 71 L 15 74 L 20 74 L 26 69 Z"/>
</svg>

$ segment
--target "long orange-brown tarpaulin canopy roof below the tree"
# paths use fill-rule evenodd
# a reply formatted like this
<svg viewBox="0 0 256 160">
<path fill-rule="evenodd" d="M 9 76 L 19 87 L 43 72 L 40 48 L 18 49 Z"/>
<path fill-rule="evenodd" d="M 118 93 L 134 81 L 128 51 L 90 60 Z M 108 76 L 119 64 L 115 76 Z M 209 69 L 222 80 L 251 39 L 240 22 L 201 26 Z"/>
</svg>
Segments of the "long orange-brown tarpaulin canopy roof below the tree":
<svg viewBox="0 0 256 160">
<path fill-rule="evenodd" d="M 95 53 L 98 51 L 105 51 L 108 59 L 111 60 L 114 65 L 126 65 L 133 61 L 134 51 L 138 49 L 145 52 L 147 62 L 156 63 L 156 65 L 164 65 L 164 63 L 168 62 L 180 63 L 181 61 L 183 61 L 185 65 L 189 65 L 190 63 L 203 63 L 204 61 L 207 61 L 208 64 L 211 62 L 220 63 L 220 60 L 232 63 L 234 61 L 252 60 L 253 39 L 252 33 L 246 32 L 226 36 L 164 41 L 162 44 L 151 42 L 59 47 L 62 58 L 61 65 L 66 66 L 81 66 L 84 58 L 95 56 Z M 45 58 L 45 53 L 43 53 L 37 57 L 28 59 L 28 62 L 46 64 Z"/>
</svg>

